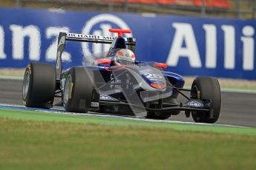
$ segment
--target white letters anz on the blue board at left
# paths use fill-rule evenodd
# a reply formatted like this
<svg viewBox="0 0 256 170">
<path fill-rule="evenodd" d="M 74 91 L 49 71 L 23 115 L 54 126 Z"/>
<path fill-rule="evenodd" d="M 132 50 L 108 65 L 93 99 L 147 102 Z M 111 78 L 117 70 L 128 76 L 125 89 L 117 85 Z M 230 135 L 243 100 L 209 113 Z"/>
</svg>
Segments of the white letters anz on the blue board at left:
<svg viewBox="0 0 256 170">
<path fill-rule="evenodd" d="M 9 29 L 11 31 L 11 37 L 5 37 L 4 29 L 0 25 L 0 59 L 6 59 L 7 56 L 12 57 L 14 61 L 24 60 L 24 51 L 28 52 L 28 58 L 30 61 L 40 61 L 40 56 L 43 53 L 45 55 L 45 61 L 55 61 L 57 52 L 57 39 L 59 32 L 69 32 L 68 27 L 47 27 L 45 31 L 39 29 L 35 25 L 22 26 L 17 24 L 10 24 Z M 10 38 L 10 44 L 4 44 L 5 38 Z M 25 38 L 28 40 L 28 50 L 24 50 Z M 45 42 L 42 38 L 53 41 L 48 45 L 47 49 L 42 52 L 41 44 Z M 11 54 L 4 52 L 4 46 L 11 47 Z M 63 61 L 70 61 L 70 53 L 62 53 Z"/>
</svg>

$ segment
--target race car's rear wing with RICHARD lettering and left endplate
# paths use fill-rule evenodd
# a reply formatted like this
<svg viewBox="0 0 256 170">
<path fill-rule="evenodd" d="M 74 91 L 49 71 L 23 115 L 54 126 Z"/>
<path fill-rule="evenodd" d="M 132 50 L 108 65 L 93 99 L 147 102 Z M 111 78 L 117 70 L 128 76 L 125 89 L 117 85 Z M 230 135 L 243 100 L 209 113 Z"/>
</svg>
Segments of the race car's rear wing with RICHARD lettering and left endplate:
<svg viewBox="0 0 256 170">
<path fill-rule="evenodd" d="M 124 38 L 128 49 L 134 51 L 136 46 L 135 38 Z M 65 49 L 66 41 L 81 41 L 101 44 L 112 44 L 115 40 L 112 36 L 104 35 L 84 35 L 77 33 L 59 33 L 58 48 L 56 57 L 56 80 L 59 81 L 62 75 L 62 52 Z"/>
</svg>

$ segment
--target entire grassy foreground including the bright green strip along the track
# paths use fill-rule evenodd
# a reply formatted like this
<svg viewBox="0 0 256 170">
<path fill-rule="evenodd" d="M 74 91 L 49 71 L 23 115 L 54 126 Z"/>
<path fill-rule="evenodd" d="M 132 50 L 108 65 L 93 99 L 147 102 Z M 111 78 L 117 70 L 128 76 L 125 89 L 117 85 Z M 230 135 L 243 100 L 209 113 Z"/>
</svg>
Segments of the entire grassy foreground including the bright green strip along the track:
<svg viewBox="0 0 256 170">
<path fill-rule="evenodd" d="M 0 109 L 0 125 L 0 169 L 255 169 L 256 166 L 256 135 L 252 128 L 10 109 Z"/>
</svg>

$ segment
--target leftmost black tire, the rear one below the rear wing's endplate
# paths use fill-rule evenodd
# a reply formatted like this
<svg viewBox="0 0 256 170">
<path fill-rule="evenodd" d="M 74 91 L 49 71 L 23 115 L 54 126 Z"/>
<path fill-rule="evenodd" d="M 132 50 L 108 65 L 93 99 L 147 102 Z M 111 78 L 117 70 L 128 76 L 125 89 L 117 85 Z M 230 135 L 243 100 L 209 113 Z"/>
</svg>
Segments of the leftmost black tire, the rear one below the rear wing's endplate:
<svg viewBox="0 0 256 170">
<path fill-rule="evenodd" d="M 30 63 L 24 72 L 24 106 L 50 109 L 56 90 L 56 69 L 47 63 Z"/>
</svg>

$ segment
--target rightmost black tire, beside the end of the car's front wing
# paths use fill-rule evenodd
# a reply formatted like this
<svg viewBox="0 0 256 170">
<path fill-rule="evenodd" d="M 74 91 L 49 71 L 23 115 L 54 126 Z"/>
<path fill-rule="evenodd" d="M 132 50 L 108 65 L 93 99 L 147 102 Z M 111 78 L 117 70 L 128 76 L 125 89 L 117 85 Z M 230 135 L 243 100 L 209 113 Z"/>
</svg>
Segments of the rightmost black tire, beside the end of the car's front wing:
<svg viewBox="0 0 256 170">
<path fill-rule="evenodd" d="M 211 100 L 210 112 L 192 112 L 192 118 L 198 123 L 215 123 L 220 116 L 221 94 L 220 84 L 217 78 L 198 77 L 194 79 L 191 86 L 191 98 L 197 98 L 197 91 L 200 91 L 200 100 Z"/>
</svg>

